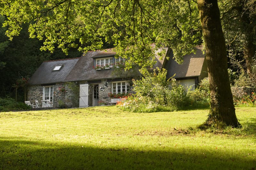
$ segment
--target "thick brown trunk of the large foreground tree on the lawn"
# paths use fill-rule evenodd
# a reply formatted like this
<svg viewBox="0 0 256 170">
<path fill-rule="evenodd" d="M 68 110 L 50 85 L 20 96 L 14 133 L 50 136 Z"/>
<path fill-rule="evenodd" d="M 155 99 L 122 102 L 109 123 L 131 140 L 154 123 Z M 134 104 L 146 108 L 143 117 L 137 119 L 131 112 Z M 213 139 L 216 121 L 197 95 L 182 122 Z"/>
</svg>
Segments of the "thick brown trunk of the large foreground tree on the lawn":
<svg viewBox="0 0 256 170">
<path fill-rule="evenodd" d="M 225 123 L 237 127 L 233 97 L 228 78 L 225 39 L 220 24 L 217 0 L 198 0 L 210 81 L 210 113 L 207 125 Z"/>
</svg>

